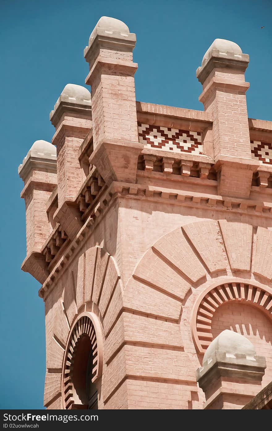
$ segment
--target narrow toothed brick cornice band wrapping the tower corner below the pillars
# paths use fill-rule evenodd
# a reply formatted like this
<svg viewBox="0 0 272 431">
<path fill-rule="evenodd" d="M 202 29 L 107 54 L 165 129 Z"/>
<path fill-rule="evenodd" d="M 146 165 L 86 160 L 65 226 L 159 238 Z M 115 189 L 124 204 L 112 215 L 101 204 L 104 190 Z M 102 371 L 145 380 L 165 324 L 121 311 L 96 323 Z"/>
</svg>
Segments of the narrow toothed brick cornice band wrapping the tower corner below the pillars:
<svg viewBox="0 0 272 431">
<path fill-rule="evenodd" d="M 199 178 L 190 178 L 191 180 L 201 180 Z M 229 198 L 216 196 L 213 194 L 200 194 L 194 192 L 178 191 L 163 189 L 162 187 L 145 186 L 143 184 L 130 184 L 120 183 L 113 181 L 106 191 L 106 195 L 101 196 L 100 201 L 94 208 L 94 212 L 88 217 L 84 225 L 78 231 L 75 239 L 71 242 L 69 247 L 65 250 L 63 256 L 60 257 L 58 262 L 54 265 L 49 277 L 44 282 L 43 286 L 39 290 L 39 296 L 44 298 L 47 290 L 50 290 L 50 286 L 59 277 L 60 272 L 66 267 L 66 263 L 70 257 L 74 255 L 75 250 L 83 245 L 88 239 L 94 228 L 97 227 L 97 223 L 100 222 L 101 218 L 106 215 L 109 207 L 117 198 L 122 199 L 133 199 L 133 200 L 146 200 L 148 202 L 166 203 L 167 205 L 184 206 L 199 209 L 211 209 L 213 211 L 225 211 L 233 212 L 237 214 L 250 214 L 256 216 L 262 216 L 271 219 L 272 217 L 272 203 L 259 202 L 256 200 L 240 200 L 237 198 Z"/>
</svg>

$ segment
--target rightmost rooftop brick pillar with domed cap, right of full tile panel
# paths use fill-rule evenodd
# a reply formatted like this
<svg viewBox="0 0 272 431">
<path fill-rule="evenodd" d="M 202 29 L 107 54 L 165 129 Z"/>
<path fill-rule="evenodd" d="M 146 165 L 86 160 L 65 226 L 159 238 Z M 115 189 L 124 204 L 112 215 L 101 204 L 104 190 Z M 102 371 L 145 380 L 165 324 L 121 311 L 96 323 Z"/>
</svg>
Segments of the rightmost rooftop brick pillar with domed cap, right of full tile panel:
<svg viewBox="0 0 272 431">
<path fill-rule="evenodd" d="M 231 41 L 216 39 L 205 53 L 197 78 L 199 97 L 213 117 L 213 145 L 219 194 L 249 197 L 253 171 L 245 82 L 249 56 Z"/>
</svg>

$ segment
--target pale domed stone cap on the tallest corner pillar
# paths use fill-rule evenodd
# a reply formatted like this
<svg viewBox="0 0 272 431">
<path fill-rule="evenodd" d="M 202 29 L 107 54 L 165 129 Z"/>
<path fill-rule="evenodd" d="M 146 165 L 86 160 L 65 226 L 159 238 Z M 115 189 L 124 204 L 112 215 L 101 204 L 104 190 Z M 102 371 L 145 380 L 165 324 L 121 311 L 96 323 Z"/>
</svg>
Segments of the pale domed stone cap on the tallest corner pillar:
<svg viewBox="0 0 272 431">
<path fill-rule="evenodd" d="M 136 42 L 136 35 L 134 33 L 130 33 L 128 26 L 124 22 L 116 18 L 111 18 L 110 16 L 102 16 L 98 20 L 94 30 L 91 32 L 88 47 L 85 47 L 84 49 L 84 56 L 86 56 L 87 51 L 97 36 L 101 36 L 104 40 L 108 41 L 110 39 L 121 39 L 123 43 L 125 43 L 125 41 L 128 41 L 129 44 L 131 44 L 131 42 Z"/>
</svg>

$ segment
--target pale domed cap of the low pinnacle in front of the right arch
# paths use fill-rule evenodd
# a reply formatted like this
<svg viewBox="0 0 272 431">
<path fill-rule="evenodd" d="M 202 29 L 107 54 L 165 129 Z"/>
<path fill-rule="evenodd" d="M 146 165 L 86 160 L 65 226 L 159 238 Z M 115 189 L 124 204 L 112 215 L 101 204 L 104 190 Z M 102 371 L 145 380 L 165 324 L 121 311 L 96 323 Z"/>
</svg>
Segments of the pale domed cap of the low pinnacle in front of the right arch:
<svg viewBox="0 0 272 431">
<path fill-rule="evenodd" d="M 220 351 L 226 354 L 228 358 L 235 358 L 236 354 L 243 354 L 247 359 L 254 359 L 256 356 L 256 350 L 250 340 L 241 334 L 226 329 L 222 331 L 209 345 L 204 357 L 204 362 L 211 360 L 216 351 Z"/>
</svg>

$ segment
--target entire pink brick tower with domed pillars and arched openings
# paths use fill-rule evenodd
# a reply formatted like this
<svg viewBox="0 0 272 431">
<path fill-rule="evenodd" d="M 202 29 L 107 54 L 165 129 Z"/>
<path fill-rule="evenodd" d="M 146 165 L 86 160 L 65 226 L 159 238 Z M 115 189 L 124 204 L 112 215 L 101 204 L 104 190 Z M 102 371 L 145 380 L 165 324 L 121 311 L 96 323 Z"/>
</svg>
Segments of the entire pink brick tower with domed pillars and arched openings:
<svg viewBox="0 0 272 431">
<path fill-rule="evenodd" d="M 272 122 L 216 39 L 204 111 L 135 100 L 136 36 L 102 17 L 19 166 L 48 409 L 241 409 L 272 380 Z"/>
</svg>

